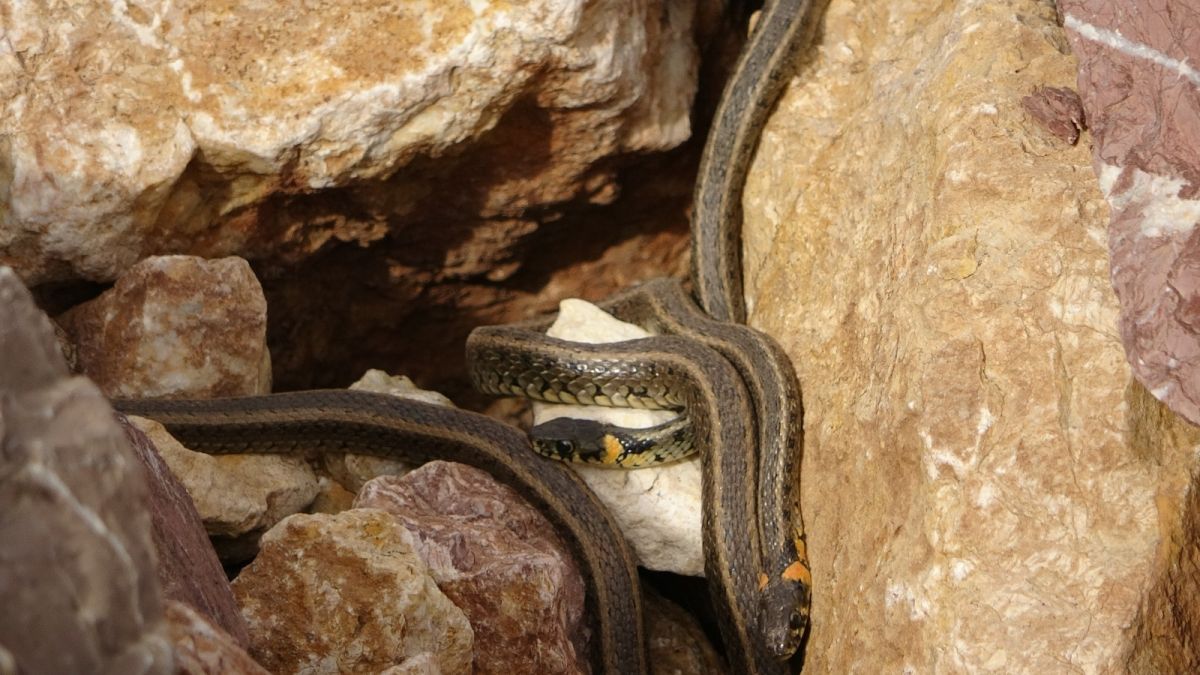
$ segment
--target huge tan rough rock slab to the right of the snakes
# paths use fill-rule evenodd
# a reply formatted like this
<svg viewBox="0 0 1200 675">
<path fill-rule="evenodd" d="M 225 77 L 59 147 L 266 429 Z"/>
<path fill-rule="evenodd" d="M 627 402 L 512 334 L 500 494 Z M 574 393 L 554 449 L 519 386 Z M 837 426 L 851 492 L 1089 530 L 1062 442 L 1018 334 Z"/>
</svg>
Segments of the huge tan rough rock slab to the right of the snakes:
<svg viewBox="0 0 1200 675">
<path fill-rule="evenodd" d="M 744 199 L 750 322 L 804 388 L 805 669 L 1194 649 L 1196 437 L 1130 387 L 1088 143 L 1021 106 L 1075 79 L 1054 7 L 833 0 L 811 52 Z"/>
</svg>

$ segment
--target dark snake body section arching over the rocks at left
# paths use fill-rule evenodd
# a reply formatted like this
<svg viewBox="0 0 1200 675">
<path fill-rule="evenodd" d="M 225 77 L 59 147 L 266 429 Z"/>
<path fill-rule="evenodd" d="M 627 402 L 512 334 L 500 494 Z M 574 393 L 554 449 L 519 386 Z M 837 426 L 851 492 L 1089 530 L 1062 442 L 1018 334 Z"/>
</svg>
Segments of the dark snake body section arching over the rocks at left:
<svg viewBox="0 0 1200 675">
<path fill-rule="evenodd" d="M 463 410 L 346 389 L 114 405 L 158 420 L 188 448 L 210 454 L 353 452 L 487 471 L 545 514 L 571 546 L 599 637 L 592 662 L 608 674 L 647 673 L 637 558 L 578 476 L 534 453 L 517 429 Z"/>
</svg>

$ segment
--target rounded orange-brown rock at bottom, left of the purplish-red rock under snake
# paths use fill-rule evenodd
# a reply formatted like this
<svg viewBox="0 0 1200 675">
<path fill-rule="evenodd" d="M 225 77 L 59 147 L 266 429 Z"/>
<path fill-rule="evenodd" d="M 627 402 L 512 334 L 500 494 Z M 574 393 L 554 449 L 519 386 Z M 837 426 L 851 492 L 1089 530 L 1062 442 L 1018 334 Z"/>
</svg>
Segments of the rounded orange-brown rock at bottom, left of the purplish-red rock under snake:
<svg viewBox="0 0 1200 675">
<path fill-rule="evenodd" d="M 409 658 L 470 673 L 470 623 L 382 510 L 284 519 L 233 586 L 251 653 L 271 673 L 378 673 Z"/>
</svg>

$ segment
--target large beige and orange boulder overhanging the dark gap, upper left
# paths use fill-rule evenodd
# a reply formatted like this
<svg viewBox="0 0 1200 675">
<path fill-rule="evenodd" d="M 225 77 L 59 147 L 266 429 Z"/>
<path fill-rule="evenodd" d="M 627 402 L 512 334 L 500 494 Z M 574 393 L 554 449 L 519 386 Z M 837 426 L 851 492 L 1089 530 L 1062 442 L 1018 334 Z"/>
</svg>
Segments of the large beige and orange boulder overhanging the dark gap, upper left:
<svg viewBox="0 0 1200 675">
<path fill-rule="evenodd" d="M 694 20 L 680 0 L 17 5 L 0 262 L 42 282 L 166 250 L 296 258 L 425 203 L 529 229 L 511 216 L 611 201 L 611 156 L 688 138 Z M 360 208 L 280 208 L 342 186 Z M 480 252 L 497 262 L 486 237 L 448 262 Z"/>
</svg>

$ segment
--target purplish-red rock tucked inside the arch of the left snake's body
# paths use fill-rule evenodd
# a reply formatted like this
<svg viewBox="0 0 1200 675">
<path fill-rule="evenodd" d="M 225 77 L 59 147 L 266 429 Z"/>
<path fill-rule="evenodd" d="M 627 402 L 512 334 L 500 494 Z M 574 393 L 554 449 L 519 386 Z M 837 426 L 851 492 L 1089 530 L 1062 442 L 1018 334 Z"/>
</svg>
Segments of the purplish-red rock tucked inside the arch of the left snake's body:
<svg viewBox="0 0 1200 675">
<path fill-rule="evenodd" d="M 583 673 L 583 579 L 550 522 L 511 489 L 433 461 L 364 486 L 413 534 L 438 587 L 470 620 L 476 673 Z"/>
</svg>

